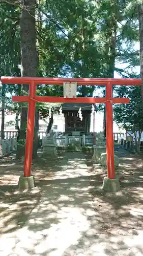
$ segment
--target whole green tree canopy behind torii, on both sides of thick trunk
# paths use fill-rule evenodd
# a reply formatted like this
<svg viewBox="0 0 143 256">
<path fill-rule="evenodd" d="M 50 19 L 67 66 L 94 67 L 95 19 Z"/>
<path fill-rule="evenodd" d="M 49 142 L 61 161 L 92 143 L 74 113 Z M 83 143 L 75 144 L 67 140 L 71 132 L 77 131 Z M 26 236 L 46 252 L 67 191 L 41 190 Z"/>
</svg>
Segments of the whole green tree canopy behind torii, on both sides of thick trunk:
<svg viewBox="0 0 143 256">
<path fill-rule="evenodd" d="M 139 52 L 133 49 L 139 39 L 138 3 L 133 0 L 39 1 L 36 10 L 39 76 L 113 77 L 117 71 L 129 77 L 129 68 L 139 64 Z M 18 2 L 0 2 L 1 75 L 20 76 L 20 11 Z M 117 69 L 116 62 L 126 62 L 128 68 Z M 94 86 L 80 86 L 78 96 L 91 97 L 94 90 Z M 7 85 L 7 93 L 23 94 L 18 84 Z M 37 95 L 63 96 L 63 87 L 39 85 Z M 9 113 L 27 105 L 12 102 L 10 96 L 5 99 Z M 56 111 L 57 106 L 37 103 L 40 118 L 48 116 L 50 107 Z"/>
</svg>

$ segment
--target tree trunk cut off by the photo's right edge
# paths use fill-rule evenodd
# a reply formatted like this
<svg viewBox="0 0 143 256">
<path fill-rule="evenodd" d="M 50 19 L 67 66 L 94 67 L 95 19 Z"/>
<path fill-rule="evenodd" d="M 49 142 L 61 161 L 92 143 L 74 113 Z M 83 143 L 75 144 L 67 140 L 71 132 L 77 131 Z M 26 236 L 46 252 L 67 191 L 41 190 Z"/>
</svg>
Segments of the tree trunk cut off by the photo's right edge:
<svg viewBox="0 0 143 256">
<path fill-rule="evenodd" d="M 139 20 L 139 42 L 140 42 L 140 78 L 141 78 L 141 100 L 143 108 L 143 4 L 138 8 L 138 20 Z M 142 156 L 143 165 L 143 156 Z"/>
</svg>

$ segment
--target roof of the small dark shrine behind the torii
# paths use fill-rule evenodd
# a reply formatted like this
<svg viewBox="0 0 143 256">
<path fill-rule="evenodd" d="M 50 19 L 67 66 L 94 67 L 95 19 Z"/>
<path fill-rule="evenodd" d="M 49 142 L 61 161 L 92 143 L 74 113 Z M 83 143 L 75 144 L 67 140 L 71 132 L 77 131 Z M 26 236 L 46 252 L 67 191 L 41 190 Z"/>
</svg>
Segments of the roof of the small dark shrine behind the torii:
<svg viewBox="0 0 143 256">
<path fill-rule="evenodd" d="M 96 105 L 94 104 L 95 110 Z M 64 103 L 62 104 L 63 110 L 78 110 L 81 108 L 82 111 L 91 111 L 92 110 L 92 104 L 84 104 L 84 103 Z"/>
</svg>

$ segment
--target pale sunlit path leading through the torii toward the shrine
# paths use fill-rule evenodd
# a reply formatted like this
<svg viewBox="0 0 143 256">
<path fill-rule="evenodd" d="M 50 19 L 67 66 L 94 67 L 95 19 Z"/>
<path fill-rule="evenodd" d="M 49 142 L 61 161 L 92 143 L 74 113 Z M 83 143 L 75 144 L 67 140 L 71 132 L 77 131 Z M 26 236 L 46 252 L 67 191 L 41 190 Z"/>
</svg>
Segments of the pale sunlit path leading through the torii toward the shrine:
<svg viewBox="0 0 143 256">
<path fill-rule="evenodd" d="M 93 236 L 93 243 L 95 212 L 83 155 L 66 154 L 43 175 L 36 182 L 43 191 L 38 206 L 23 228 L 2 236 L 1 255 L 12 250 L 16 255 L 76 255 L 84 250 L 88 237 Z"/>
</svg>

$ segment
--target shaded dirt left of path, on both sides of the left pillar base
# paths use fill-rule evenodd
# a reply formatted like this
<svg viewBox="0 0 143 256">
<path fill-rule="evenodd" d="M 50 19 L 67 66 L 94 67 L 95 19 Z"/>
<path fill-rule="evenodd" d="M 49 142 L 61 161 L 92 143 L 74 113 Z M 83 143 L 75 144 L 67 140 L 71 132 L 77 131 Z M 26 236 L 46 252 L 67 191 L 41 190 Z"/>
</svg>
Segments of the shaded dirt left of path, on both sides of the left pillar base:
<svg viewBox="0 0 143 256">
<path fill-rule="evenodd" d="M 41 157 L 33 161 L 32 171 L 36 181 L 40 179 L 39 183 L 36 182 L 39 188 L 44 185 L 47 177 L 54 179 L 54 172 L 60 175 L 61 171 L 68 168 L 67 165 L 62 165 L 62 159 L 63 156 Z M 73 169 L 75 166 L 72 164 Z M 17 184 L 23 167 L 23 162 L 16 161 L 15 156 L 8 156 L 0 161 L 0 234 L 21 228 L 40 200 L 40 189 L 19 193 Z"/>
</svg>

